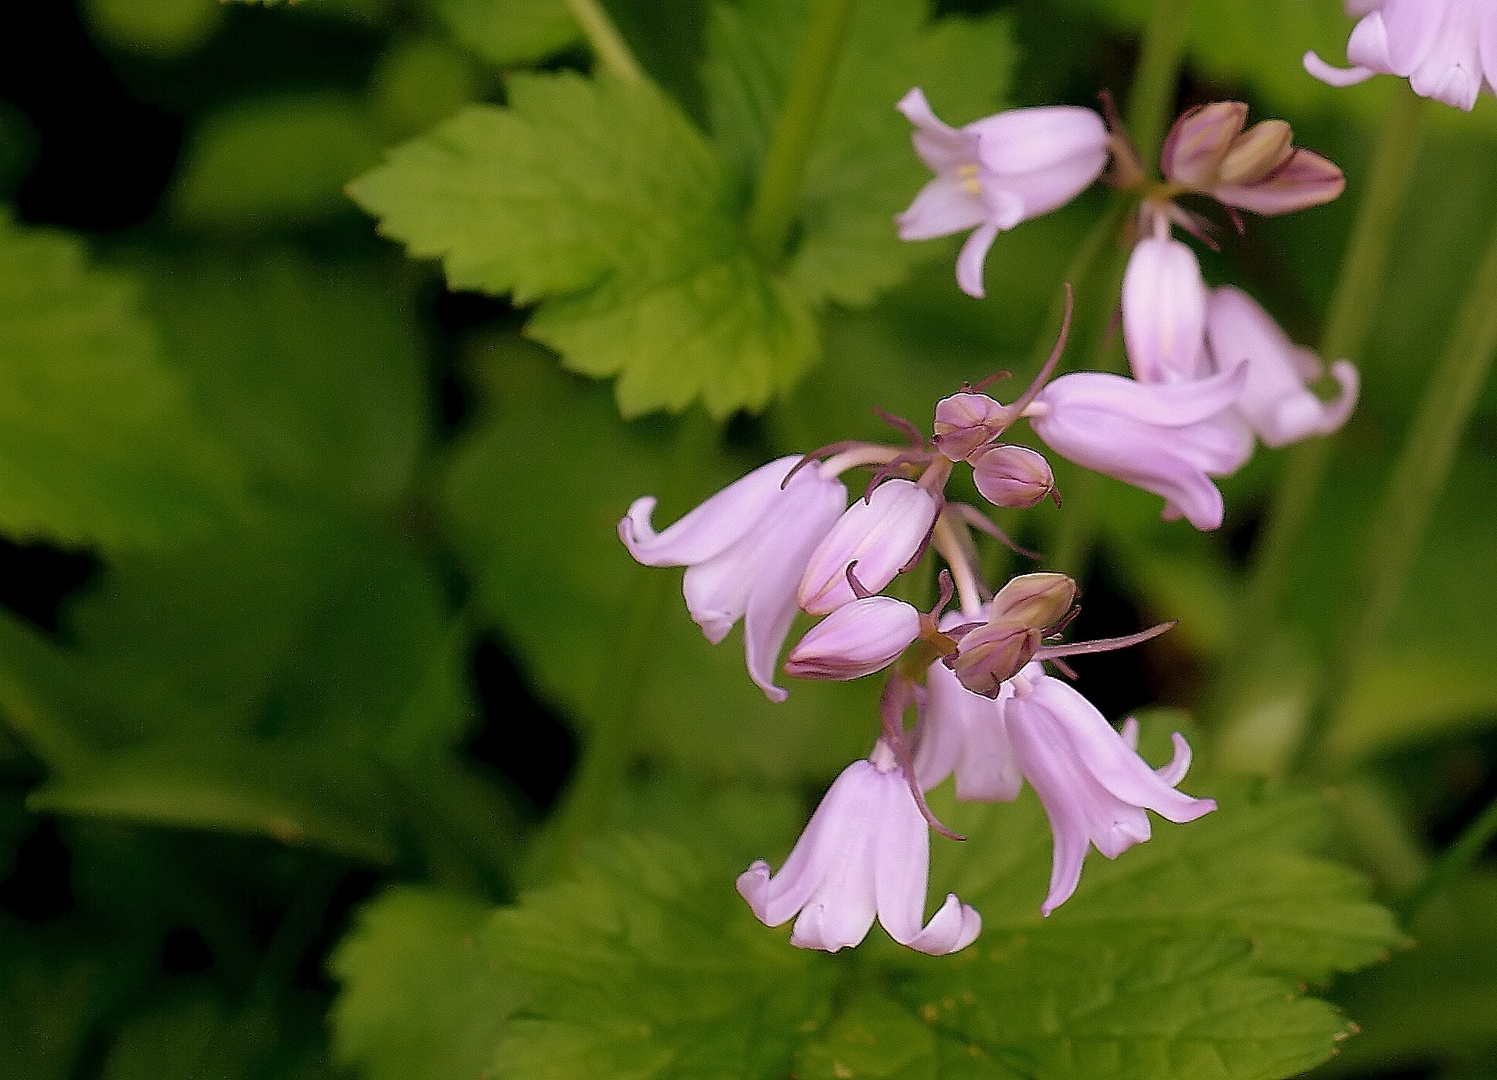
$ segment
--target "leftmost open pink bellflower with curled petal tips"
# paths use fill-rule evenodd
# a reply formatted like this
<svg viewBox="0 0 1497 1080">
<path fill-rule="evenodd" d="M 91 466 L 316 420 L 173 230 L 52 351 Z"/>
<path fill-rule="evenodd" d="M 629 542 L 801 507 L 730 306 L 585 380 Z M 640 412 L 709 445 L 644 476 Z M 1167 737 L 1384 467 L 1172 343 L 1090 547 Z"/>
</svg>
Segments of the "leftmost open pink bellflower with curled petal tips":
<svg viewBox="0 0 1497 1080">
<path fill-rule="evenodd" d="M 783 488 L 799 457 L 781 457 L 728 485 L 665 532 L 650 524 L 653 496 L 636 499 L 618 538 L 647 566 L 686 566 L 687 611 L 717 644 L 740 619 L 748 676 L 783 701 L 774 667 L 795 620 L 795 590 L 816 545 L 847 505 L 841 482 L 814 466 Z"/>
</svg>

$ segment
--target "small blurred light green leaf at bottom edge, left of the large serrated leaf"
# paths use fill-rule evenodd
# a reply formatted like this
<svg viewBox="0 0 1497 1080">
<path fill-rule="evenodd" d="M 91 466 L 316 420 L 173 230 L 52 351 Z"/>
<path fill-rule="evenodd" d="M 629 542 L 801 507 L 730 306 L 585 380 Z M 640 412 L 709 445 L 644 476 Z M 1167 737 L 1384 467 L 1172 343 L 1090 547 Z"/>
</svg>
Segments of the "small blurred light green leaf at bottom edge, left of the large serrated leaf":
<svg viewBox="0 0 1497 1080">
<path fill-rule="evenodd" d="M 485 942 L 493 908 L 395 888 L 332 956 L 334 1046 L 367 1080 L 481 1080 L 524 989 Z"/>
</svg>

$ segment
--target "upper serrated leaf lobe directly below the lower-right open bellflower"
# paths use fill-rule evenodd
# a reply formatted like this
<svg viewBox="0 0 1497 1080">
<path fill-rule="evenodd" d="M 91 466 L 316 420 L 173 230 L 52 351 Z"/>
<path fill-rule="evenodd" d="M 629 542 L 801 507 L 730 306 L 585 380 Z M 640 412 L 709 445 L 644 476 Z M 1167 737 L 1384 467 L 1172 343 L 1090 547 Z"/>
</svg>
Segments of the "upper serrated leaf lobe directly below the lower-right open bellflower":
<svg viewBox="0 0 1497 1080">
<path fill-rule="evenodd" d="M 1189 779 L 1183 786 L 1193 791 Z M 1316 981 L 1385 959 L 1401 941 L 1359 875 L 1307 854 L 1328 831 L 1319 800 L 1219 801 L 1220 810 L 1189 825 L 1156 819 L 1154 837 L 1117 860 L 1093 852 L 1076 894 L 1042 920 L 1051 836 L 1039 801 L 1025 792 L 1013 804 L 973 807 L 942 797 L 937 815 L 985 857 L 939 845 L 933 890 L 955 891 L 997 933 L 1043 924 L 1250 941 L 1260 969 Z"/>
</svg>

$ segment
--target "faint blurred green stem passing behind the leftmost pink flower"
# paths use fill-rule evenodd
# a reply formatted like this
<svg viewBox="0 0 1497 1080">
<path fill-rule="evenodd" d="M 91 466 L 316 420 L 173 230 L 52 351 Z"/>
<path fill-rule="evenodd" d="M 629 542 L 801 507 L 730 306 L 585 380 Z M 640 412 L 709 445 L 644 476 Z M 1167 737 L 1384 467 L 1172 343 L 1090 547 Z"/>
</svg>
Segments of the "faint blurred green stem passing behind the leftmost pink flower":
<svg viewBox="0 0 1497 1080">
<path fill-rule="evenodd" d="M 689 497 L 692 481 L 702 473 L 702 463 L 711 460 L 717 437 L 717 424 L 701 409 L 681 419 L 672 467 L 662 482 L 662 503 L 678 506 Z M 618 643 L 615 662 L 596 676 L 594 707 L 588 710 L 593 723 L 587 729 L 582 759 L 561 807 L 540 839 L 543 846 L 527 867 L 533 881 L 552 878 L 566 869 L 582 843 L 603 830 L 629 776 L 639 700 L 660 659 L 668 605 L 680 590 L 675 574 L 653 566 L 633 566 L 630 572 L 629 625 Z"/>
</svg>

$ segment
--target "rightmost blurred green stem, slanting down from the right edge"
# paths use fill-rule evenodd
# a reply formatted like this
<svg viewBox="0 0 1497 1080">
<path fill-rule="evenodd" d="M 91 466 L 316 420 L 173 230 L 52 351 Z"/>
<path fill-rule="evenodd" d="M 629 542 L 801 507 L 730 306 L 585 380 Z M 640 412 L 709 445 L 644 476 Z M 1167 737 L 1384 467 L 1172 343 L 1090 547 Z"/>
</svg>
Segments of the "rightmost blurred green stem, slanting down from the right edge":
<svg viewBox="0 0 1497 1080">
<path fill-rule="evenodd" d="M 1295 764 L 1304 768 L 1338 719 L 1347 691 L 1367 665 L 1403 598 L 1430 512 L 1445 488 L 1461 434 L 1497 357 L 1497 223 L 1472 279 L 1440 367 L 1425 386 L 1398 463 L 1383 490 L 1352 581 L 1352 617 L 1305 719 Z"/>
</svg>

